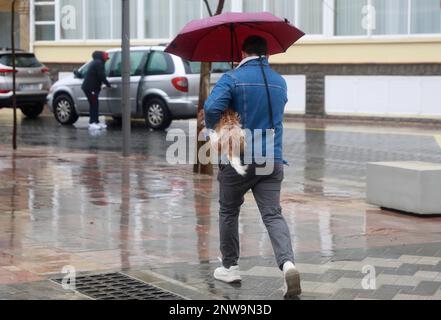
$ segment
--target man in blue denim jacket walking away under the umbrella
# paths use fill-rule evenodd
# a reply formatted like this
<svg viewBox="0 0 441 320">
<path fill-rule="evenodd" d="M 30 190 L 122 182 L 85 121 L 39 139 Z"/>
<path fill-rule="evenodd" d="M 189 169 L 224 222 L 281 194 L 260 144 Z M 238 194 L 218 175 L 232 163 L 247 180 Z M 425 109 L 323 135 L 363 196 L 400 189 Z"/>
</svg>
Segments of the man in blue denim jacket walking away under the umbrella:
<svg viewBox="0 0 441 320">
<path fill-rule="evenodd" d="M 228 72 L 217 82 L 204 106 L 208 129 L 213 129 L 222 113 L 231 108 L 240 115 L 243 128 L 253 133 L 251 156 L 242 159 L 250 164 L 245 176 L 237 174 L 231 165 L 219 165 L 222 266 L 215 270 L 214 277 L 227 283 L 241 281 L 238 266 L 239 211 L 244 195 L 252 190 L 269 233 L 277 265 L 284 274 L 284 297 L 294 297 L 301 293 L 300 275 L 294 265 L 291 236 L 280 207 L 284 164 L 283 112 L 287 87 L 285 80 L 269 67 L 267 52 L 264 38 L 248 37 L 242 46 L 242 62 L 236 70 Z M 269 138 L 272 138 L 270 143 L 268 132 Z M 257 152 L 255 146 L 261 146 L 263 150 Z M 272 170 L 262 174 L 264 166 Z"/>
</svg>

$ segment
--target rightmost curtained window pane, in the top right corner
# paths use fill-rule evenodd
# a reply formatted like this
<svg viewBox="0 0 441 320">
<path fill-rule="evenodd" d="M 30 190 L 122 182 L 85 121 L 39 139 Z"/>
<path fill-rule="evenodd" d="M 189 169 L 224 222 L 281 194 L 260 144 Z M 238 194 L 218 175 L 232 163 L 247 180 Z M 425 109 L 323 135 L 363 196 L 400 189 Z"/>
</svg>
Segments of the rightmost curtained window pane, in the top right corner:
<svg viewBox="0 0 441 320">
<path fill-rule="evenodd" d="M 440 32 L 440 2 L 438 0 L 411 0 L 411 33 Z"/>
</svg>

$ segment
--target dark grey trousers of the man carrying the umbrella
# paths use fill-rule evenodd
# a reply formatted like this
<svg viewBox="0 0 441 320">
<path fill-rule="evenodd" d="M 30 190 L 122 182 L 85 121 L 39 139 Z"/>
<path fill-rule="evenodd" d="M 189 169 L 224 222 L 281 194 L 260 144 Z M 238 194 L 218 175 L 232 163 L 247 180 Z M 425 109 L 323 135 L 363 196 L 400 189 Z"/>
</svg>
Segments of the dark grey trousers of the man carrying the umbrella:
<svg viewBox="0 0 441 320">
<path fill-rule="evenodd" d="M 220 251 L 223 266 L 230 268 L 237 265 L 239 260 L 239 212 L 244 195 L 249 190 L 253 192 L 269 233 L 277 265 L 282 269 L 286 261 L 294 262 L 291 235 L 280 207 L 283 164 L 274 164 L 274 170 L 269 175 L 256 175 L 256 165 L 249 165 L 244 177 L 237 174 L 230 165 L 220 165 L 218 180 Z"/>
</svg>

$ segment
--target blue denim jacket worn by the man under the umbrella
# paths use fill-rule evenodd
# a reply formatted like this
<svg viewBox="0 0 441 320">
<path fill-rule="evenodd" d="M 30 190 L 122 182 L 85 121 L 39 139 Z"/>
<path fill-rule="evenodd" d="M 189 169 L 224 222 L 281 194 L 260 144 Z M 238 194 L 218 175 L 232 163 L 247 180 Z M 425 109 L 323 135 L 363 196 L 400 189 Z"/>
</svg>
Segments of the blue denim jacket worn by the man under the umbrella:
<svg viewBox="0 0 441 320">
<path fill-rule="evenodd" d="M 285 79 L 270 68 L 267 59 L 263 59 L 262 63 L 269 84 L 274 132 L 265 130 L 272 129 L 272 124 L 259 59 L 250 60 L 219 79 L 204 106 L 205 124 L 208 129 L 213 129 L 227 108 L 235 110 L 240 115 L 242 128 L 249 129 L 246 136 L 248 152 L 245 152 L 244 161 L 282 163 L 287 87 Z"/>
</svg>

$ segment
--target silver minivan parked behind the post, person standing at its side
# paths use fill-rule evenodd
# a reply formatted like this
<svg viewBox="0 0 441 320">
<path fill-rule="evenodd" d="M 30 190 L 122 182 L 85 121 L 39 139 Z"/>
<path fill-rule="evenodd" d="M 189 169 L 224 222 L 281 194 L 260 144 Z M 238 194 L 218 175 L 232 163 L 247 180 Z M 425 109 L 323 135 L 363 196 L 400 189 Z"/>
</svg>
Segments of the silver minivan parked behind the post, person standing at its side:
<svg viewBox="0 0 441 320">
<path fill-rule="evenodd" d="M 152 129 L 167 128 L 173 119 L 196 117 L 200 63 L 164 52 L 163 46 L 132 47 L 130 50 L 130 101 L 132 118 L 145 119 Z M 100 93 L 100 114 L 121 119 L 121 49 L 111 49 L 105 64 L 112 88 Z M 90 63 L 90 62 L 89 62 Z M 89 115 L 89 104 L 81 84 L 89 63 L 52 86 L 49 109 L 61 124 L 73 124 Z M 228 63 L 213 64 L 212 84 L 230 70 Z"/>
</svg>

